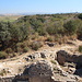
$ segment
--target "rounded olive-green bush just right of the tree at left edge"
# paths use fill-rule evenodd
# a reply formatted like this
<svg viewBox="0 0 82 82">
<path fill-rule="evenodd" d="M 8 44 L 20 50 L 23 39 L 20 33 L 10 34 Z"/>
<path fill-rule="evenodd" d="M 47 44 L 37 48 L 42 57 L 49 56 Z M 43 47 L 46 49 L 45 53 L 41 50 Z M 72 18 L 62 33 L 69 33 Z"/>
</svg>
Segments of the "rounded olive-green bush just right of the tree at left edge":
<svg viewBox="0 0 82 82">
<path fill-rule="evenodd" d="M 26 25 L 22 25 L 22 26 L 13 26 L 12 27 L 12 38 L 15 42 L 21 42 L 27 38 L 28 36 L 28 28 L 26 27 Z"/>
</svg>

